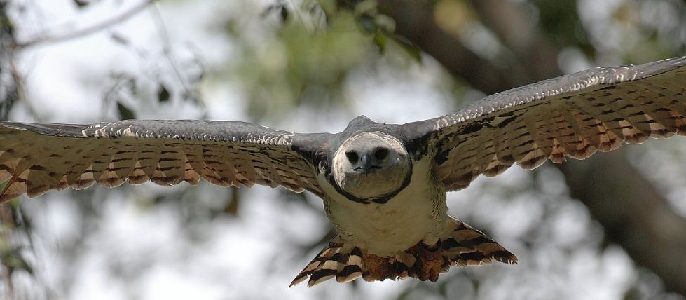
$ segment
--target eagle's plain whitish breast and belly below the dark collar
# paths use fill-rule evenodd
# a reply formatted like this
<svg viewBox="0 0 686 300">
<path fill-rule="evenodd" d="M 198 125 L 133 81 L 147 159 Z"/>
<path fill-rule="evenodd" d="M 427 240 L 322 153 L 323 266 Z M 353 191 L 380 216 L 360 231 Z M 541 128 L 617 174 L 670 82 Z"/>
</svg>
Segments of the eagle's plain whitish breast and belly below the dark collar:
<svg viewBox="0 0 686 300">
<path fill-rule="evenodd" d="M 324 207 L 341 237 L 380 257 L 435 240 L 448 217 L 444 186 L 431 175 L 430 158 L 413 165 L 410 184 L 387 203 L 363 204 L 337 193 L 323 176 Z"/>
</svg>

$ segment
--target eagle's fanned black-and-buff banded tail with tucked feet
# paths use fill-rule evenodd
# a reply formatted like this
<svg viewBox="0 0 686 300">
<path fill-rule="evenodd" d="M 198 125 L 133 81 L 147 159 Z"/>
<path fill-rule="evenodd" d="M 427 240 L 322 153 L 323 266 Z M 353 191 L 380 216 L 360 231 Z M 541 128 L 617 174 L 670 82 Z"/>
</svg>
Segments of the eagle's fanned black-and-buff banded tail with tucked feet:
<svg viewBox="0 0 686 300">
<path fill-rule="evenodd" d="M 393 257 L 369 254 L 336 236 L 303 268 L 290 287 L 308 278 L 308 287 L 334 278 L 337 282 L 357 278 L 369 282 L 404 278 L 435 282 L 451 266 L 483 266 L 494 260 L 517 263 L 514 254 L 481 231 L 450 217 L 444 235 L 436 244 L 425 245 L 420 241 Z"/>
</svg>

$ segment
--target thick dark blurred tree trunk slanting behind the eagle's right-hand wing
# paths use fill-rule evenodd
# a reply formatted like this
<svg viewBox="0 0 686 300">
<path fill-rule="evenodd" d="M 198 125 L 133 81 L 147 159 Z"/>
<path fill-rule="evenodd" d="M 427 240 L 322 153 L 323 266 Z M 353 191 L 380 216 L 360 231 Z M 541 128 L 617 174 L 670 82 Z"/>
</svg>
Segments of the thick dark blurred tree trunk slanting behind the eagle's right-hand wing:
<svg viewBox="0 0 686 300">
<path fill-rule="evenodd" d="M 661 3 L 652 1 L 650 5 L 670 6 L 681 17 L 686 16 L 683 3 L 658 2 Z M 636 11 L 640 4 L 631 1 L 620 4 L 615 8 L 613 20 L 606 22 L 637 22 L 631 18 L 640 18 L 641 12 Z M 557 63 L 558 49 L 577 48 L 589 58 L 596 57 L 596 50 L 587 40 L 588 34 L 579 30 L 582 25 L 575 18 L 578 5 L 576 1 L 556 1 L 554 4 L 549 1 L 518 3 L 495 0 L 379 1 L 380 13 L 390 15 L 398 24 L 397 34 L 405 36 L 452 74 L 487 94 L 561 74 Z M 441 15 L 451 20 L 444 20 Z M 469 15 L 478 19 L 473 22 L 481 22 L 495 35 L 502 46 L 501 52 L 506 54 L 486 59 L 466 48 L 460 40 L 464 38 L 461 31 L 466 22 L 454 19 Z M 669 26 L 683 30 L 686 20 L 679 18 L 677 21 L 679 24 Z M 598 23 L 598 26 L 608 25 Z M 650 25 L 643 26 L 648 36 L 657 34 L 654 32 L 657 29 L 650 28 Z M 646 57 L 641 57 L 641 60 L 683 55 L 686 44 L 682 31 L 675 30 L 672 34 L 675 34 L 673 39 L 668 39 L 672 41 L 671 45 L 661 45 L 661 41 L 653 40 L 652 43 L 658 45 L 650 46 L 650 37 L 640 37 L 646 40 L 641 47 L 671 48 L 668 53 L 645 53 Z M 601 163 L 603 160 L 605 163 Z M 610 160 L 612 163 L 608 163 Z M 602 166 L 588 167 L 593 164 Z M 660 275 L 669 289 L 686 295 L 683 281 L 686 278 L 686 231 L 683 230 L 686 229 L 686 219 L 673 212 L 668 201 L 652 184 L 631 168 L 625 155 L 594 157 L 585 163 L 570 162 L 561 170 L 567 178 L 571 195 L 589 207 L 591 214 L 605 226 L 607 237 L 622 245 L 639 264 Z"/>
</svg>

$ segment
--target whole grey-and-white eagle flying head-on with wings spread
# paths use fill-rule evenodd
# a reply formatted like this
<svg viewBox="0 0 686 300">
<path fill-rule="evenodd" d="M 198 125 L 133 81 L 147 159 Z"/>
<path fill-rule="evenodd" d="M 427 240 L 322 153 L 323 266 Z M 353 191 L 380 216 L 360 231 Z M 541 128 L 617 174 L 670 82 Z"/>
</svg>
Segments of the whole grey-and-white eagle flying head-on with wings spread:
<svg viewBox="0 0 686 300">
<path fill-rule="evenodd" d="M 234 121 L 90 125 L 0 121 L 0 203 L 123 183 L 282 186 L 324 200 L 336 236 L 291 282 L 417 278 L 451 266 L 516 264 L 448 215 L 446 192 L 516 163 L 588 158 L 622 142 L 686 134 L 686 57 L 594 68 L 496 93 L 406 124 L 354 118 L 295 133 Z"/>
</svg>

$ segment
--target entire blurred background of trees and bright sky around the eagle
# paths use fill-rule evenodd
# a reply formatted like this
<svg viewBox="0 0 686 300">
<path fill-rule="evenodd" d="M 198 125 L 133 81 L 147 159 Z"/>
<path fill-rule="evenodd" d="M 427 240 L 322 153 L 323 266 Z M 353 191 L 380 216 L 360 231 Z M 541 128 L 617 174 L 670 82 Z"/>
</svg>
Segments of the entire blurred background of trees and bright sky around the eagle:
<svg viewBox="0 0 686 300">
<path fill-rule="evenodd" d="M 0 0 L 0 119 L 404 123 L 589 67 L 684 55 L 678 0 Z M 55 191 L 0 207 L 0 299 L 685 299 L 686 139 L 448 193 L 519 265 L 289 282 L 322 201 L 256 186 Z"/>
</svg>

